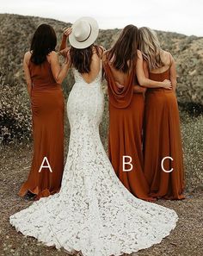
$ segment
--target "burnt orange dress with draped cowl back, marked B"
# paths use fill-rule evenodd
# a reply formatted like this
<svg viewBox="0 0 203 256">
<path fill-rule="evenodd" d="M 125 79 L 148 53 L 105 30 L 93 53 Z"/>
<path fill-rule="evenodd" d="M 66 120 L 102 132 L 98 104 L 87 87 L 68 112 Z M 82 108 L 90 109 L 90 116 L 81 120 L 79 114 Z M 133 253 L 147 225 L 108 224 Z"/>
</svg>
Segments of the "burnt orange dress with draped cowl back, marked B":
<svg viewBox="0 0 203 256">
<path fill-rule="evenodd" d="M 108 81 L 109 132 L 108 154 L 114 171 L 122 184 L 138 198 L 151 200 L 149 185 L 143 172 L 142 129 L 145 99 L 142 93 L 133 93 L 136 76 L 129 74 L 123 90 L 115 84 L 114 75 L 107 61 L 103 62 Z M 123 156 L 132 158 L 132 171 L 124 172 Z M 126 159 L 128 162 L 129 159 Z M 125 169 L 130 169 L 125 165 Z"/>
</svg>

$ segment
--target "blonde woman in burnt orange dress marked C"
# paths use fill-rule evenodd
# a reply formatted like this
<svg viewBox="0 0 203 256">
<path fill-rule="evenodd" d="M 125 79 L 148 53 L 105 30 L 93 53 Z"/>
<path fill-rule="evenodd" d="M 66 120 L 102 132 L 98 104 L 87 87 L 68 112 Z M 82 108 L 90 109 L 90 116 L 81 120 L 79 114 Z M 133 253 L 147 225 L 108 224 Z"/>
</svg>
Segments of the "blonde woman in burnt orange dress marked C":
<svg viewBox="0 0 203 256">
<path fill-rule="evenodd" d="M 182 199 L 184 170 L 175 61 L 163 51 L 150 28 L 139 28 L 139 49 L 142 54 L 137 69 L 142 66 L 143 56 L 145 75 L 157 82 L 169 79 L 173 88 L 149 88 L 145 94 L 145 177 L 152 197 Z"/>
</svg>

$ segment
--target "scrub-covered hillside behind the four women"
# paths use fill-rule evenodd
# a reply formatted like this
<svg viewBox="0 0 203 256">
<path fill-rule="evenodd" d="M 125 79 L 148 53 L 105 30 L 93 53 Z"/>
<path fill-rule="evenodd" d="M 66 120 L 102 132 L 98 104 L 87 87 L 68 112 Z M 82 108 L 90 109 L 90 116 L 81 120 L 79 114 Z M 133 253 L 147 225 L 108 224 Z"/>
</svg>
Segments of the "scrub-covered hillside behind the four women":
<svg viewBox="0 0 203 256">
<path fill-rule="evenodd" d="M 58 44 L 63 28 L 71 26 L 70 23 L 52 19 L 0 14 L 0 147 L 4 143 L 30 140 L 32 137 L 30 103 L 22 71 L 22 59 L 29 49 L 34 30 L 44 22 L 55 29 Z M 97 43 L 109 48 L 119 33 L 119 29 L 101 30 Z M 161 31 L 157 31 L 157 34 L 163 48 L 175 57 L 180 109 L 199 116 L 203 113 L 203 38 Z M 65 98 L 73 83 L 70 73 L 63 83 Z M 183 112 L 181 116 L 184 116 Z M 68 125 L 65 127 L 69 131 Z M 102 141 L 106 144 L 108 97 L 101 129 Z"/>
</svg>

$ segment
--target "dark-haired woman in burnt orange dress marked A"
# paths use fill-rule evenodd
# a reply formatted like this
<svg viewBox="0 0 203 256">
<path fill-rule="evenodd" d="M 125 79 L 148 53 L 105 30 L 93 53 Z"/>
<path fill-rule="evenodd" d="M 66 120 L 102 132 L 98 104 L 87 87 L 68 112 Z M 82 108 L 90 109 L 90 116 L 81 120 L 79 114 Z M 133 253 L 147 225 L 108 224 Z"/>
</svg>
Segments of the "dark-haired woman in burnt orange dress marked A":
<svg viewBox="0 0 203 256">
<path fill-rule="evenodd" d="M 56 44 L 53 28 L 42 24 L 23 60 L 32 109 L 34 156 L 19 195 L 36 200 L 58 192 L 64 169 L 64 97 L 60 84 L 69 63 L 59 66 Z"/>
</svg>

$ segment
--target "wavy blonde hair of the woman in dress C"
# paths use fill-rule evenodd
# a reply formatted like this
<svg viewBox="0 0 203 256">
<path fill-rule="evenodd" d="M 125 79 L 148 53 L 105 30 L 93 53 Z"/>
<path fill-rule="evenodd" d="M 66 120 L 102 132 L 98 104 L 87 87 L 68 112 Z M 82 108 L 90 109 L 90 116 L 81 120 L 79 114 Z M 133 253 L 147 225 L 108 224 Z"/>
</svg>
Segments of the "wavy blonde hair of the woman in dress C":
<svg viewBox="0 0 203 256">
<path fill-rule="evenodd" d="M 139 50 L 143 54 L 143 59 L 148 63 L 149 69 L 157 69 L 164 66 L 161 52 L 162 48 L 157 38 L 157 34 L 151 28 L 142 27 L 138 29 Z"/>
</svg>

